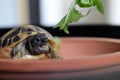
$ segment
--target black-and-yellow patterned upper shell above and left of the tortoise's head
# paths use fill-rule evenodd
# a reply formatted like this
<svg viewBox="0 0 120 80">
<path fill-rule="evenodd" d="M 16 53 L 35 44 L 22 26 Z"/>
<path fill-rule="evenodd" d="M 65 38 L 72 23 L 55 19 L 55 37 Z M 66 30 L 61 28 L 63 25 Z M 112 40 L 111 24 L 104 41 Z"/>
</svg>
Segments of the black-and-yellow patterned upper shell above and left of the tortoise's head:
<svg viewBox="0 0 120 80">
<path fill-rule="evenodd" d="M 17 43 L 21 42 L 26 37 L 37 34 L 34 28 L 35 27 L 27 25 L 12 29 L 0 39 L 1 48 L 8 46 L 14 47 Z"/>
</svg>

